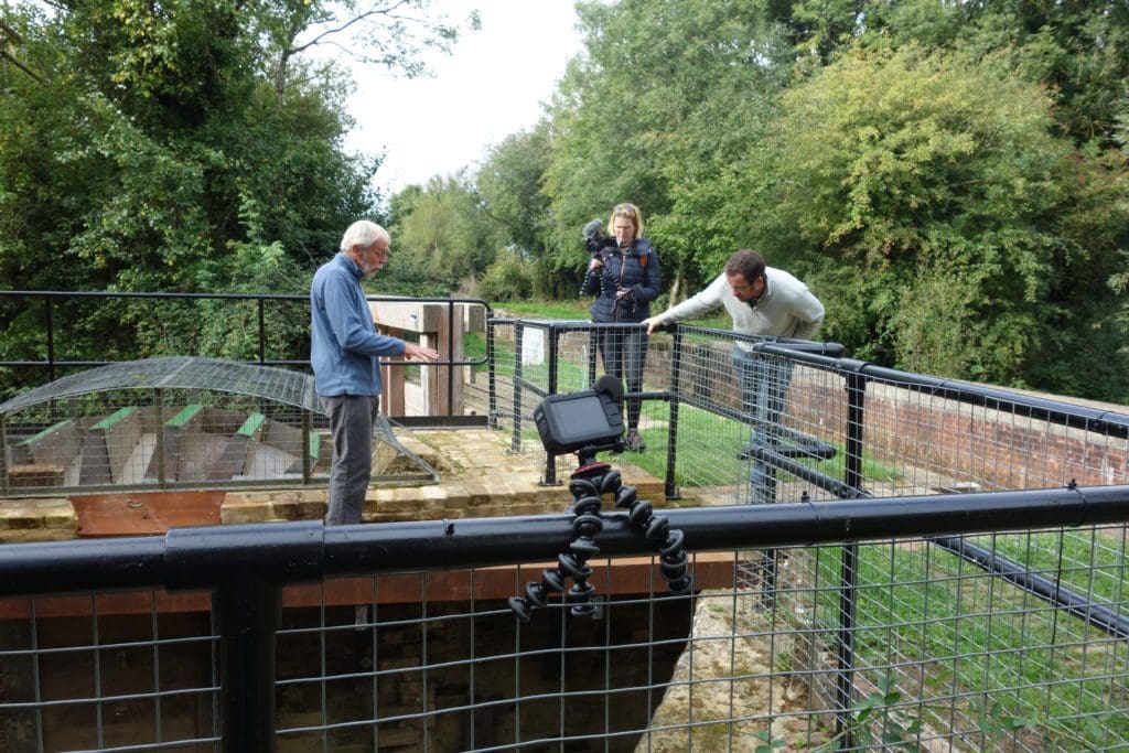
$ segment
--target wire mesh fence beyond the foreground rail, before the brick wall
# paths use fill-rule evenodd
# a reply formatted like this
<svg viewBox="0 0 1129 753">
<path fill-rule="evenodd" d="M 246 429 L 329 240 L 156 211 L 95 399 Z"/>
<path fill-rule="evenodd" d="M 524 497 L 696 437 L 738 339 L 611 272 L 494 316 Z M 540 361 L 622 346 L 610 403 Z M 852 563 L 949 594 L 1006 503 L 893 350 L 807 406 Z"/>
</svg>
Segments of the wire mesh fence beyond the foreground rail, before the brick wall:
<svg viewBox="0 0 1129 753">
<path fill-rule="evenodd" d="M 540 454 L 533 409 L 625 374 L 599 343 L 633 325 L 491 322 L 493 418 L 515 452 Z M 1017 392 L 918 377 L 680 326 L 645 348 L 642 452 L 620 459 L 702 504 L 742 504 L 1124 483 L 1126 418 Z M 616 371 L 615 369 L 621 370 Z M 630 422 L 629 418 L 629 422 Z M 558 470 L 563 472 L 563 459 Z M 668 491 L 673 496 L 674 489 Z"/>
</svg>

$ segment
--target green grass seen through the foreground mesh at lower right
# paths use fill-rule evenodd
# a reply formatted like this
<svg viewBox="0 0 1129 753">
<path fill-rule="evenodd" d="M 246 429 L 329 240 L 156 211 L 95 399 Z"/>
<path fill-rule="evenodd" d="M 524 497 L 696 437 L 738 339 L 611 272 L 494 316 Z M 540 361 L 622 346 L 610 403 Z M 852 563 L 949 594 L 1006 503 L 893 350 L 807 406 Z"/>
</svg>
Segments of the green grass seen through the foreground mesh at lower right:
<svg viewBox="0 0 1129 753">
<path fill-rule="evenodd" d="M 1103 588 L 1094 572 L 1120 572 L 1123 553 L 1091 543 L 1086 532 L 1070 531 L 980 541 L 1033 572 L 1115 605 L 1124 598 L 1120 578 L 1108 578 Z M 841 608 L 842 551 L 803 550 L 814 560 L 814 583 L 789 596 L 809 602 L 813 624 L 829 637 Z M 954 710 L 974 718 L 974 704 L 987 695 L 1000 713 L 1035 719 L 1027 734 L 1041 737 L 1045 750 L 1109 750 L 1111 741 L 1129 739 L 1124 698 L 1110 699 L 1111 673 L 1124 671 L 1117 639 L 927 543 L 860 544 L 856 573 L 855 666 L 873 667 L 860 669 L 873 681 L 891 664 L 934 657 L 920 671 L 913 665 L 896 671 L 899 689 L 922 699 L 917 708 L 927 724 L 945 728 Z"/>
</svg>

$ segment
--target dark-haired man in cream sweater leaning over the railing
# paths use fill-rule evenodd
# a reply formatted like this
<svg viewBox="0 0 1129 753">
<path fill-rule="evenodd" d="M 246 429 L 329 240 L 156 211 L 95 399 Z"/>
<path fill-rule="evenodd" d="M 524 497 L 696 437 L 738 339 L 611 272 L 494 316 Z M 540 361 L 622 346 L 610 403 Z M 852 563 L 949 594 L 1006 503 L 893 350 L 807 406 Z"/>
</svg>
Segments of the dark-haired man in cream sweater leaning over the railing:
<svg viewBox="0 0 1129 753">
<path fill-rule="evenodd" d="M 743 334 L 812 340 L 823 323 L 823 304 L 807 286 L 784 270 L 765 266 L 764 259 L 749 248 L 730 256 L 725 271 L 704 290 L 642 323 L 649 334 L 664 324 L 718 306 L 724 306 L 733 317 L 734 331 Z M 777 427 L 791 382 L 791 362 L 753 352 L 750 342 L 738 340 L 733 348 L 733 364 L 752 424 L 750 446 L 741 452 L 741 459 L 754 459 L 749 479 L 751 501 L 772 501 L 774 474 L 755 461 L 754 449 L 778 441 Z"/>
</svg>

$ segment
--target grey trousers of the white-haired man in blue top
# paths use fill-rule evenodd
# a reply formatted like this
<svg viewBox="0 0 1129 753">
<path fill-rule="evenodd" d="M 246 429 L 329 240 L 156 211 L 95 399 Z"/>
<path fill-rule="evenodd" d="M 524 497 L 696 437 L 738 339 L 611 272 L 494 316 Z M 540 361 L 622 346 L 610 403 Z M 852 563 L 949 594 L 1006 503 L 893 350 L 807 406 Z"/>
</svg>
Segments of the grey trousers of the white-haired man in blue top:
<svg viewBox="0 0 1129 753">
<path fill-rule="evenodd" d="M 333 465 L 330 469 L 330 509 L 325 525 L 360 523 L 365 492 L 373 475 L 373 412 L 368 395 L 322 397 L 330 413 Z"/>
</svg>

